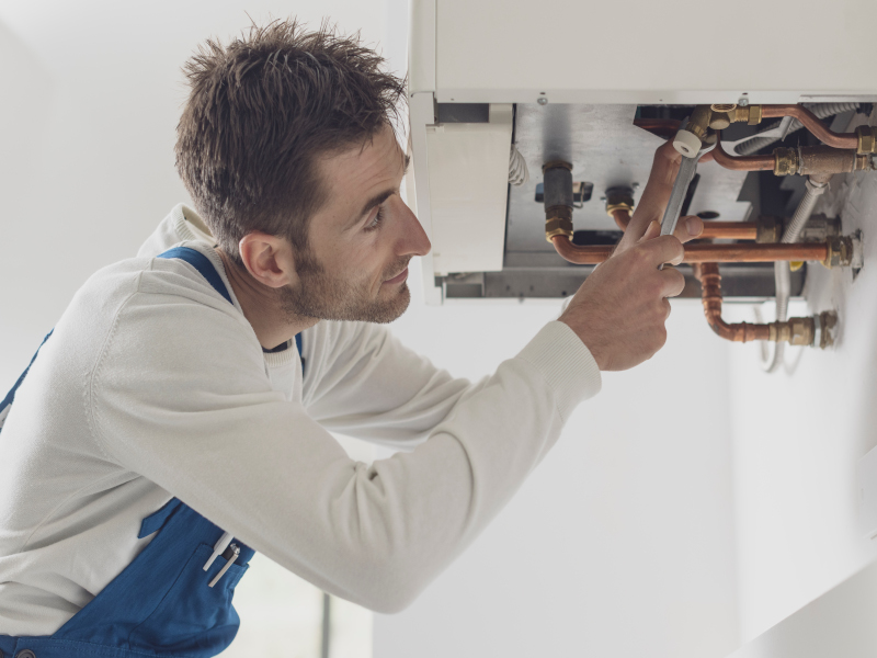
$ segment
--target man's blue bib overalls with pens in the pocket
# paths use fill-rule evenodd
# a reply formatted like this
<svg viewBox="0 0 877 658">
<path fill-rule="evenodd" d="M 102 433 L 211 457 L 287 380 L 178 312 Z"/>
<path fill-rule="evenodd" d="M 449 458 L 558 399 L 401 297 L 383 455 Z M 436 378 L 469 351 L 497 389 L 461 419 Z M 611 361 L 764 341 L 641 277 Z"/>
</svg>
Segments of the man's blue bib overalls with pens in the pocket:
<svg viewBox="0 0 877 658">
<path fill-rule="evenodd" d="M 231 302 L 201 252 L 176 247 L 159 258 L 186 261 Z M 300 354 L 300 334 L 296 343 Z M 27 370 L 0 404 L 0 429 Z M 153 533 L 122 574 L 54 635 L 0 635 L 0 658 L 207 658 L 226 649 L 240 625 L 231 597 L 253 549 L 176 498 L 144 519 L 138 538 Z"/>
</svg>

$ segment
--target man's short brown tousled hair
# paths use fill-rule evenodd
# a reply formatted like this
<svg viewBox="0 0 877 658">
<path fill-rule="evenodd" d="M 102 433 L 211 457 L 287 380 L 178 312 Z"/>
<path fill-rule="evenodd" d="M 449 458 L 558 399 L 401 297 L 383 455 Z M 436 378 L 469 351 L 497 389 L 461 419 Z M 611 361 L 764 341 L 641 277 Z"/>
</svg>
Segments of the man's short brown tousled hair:
<svg viewBox="0 0 877 658">
<path fill-rule="evenodd" d="M 185 64 L 191 92 L 176 128 L 176 169 L 223 250 L 239 264 L 248 232 L 308 249 L 308 218 L 326 202 L 318 159 L 365 146 L 395 126 L 405 81 L 358 33 L 295 21 L 208 39 Z"/>
</svg>

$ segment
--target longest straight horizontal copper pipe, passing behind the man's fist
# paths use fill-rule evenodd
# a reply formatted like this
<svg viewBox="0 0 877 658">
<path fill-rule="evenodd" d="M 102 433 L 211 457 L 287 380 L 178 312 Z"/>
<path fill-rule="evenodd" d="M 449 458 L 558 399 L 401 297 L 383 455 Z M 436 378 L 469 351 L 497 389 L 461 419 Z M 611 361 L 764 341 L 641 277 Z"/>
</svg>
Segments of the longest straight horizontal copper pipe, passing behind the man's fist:
<svg viewBox="0 0 877 658">
<path fill-rule="evenodd" d="M 606 245 L 580 247 L 566 236 L 555 236 L 551 242 L 565 260 L 578 265 L 596 265 L 615 249 Z M 828 242 L 794 245 L 685 245 L 684 263 L 771 263 L 776 261 L 820 261 L 830 254 Z"/>
</svg>

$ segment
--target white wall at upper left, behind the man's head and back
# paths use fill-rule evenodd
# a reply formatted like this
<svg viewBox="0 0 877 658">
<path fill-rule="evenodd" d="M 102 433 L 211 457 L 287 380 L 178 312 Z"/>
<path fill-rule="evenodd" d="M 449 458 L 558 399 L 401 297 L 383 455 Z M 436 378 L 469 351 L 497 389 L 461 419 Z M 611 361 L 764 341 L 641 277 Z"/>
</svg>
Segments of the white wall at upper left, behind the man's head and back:
<svg viewBox="0 0 877 658">
<path fill-rule="evenodd" d="M 376 44 L 386 1 L 0 0 L 0 382 L 92 272 L 136 253 L 187 200 L 173 145 L 180 69 L 200 43 L 238 34 L 248 14 L 295 14 Z"/>
</svg>

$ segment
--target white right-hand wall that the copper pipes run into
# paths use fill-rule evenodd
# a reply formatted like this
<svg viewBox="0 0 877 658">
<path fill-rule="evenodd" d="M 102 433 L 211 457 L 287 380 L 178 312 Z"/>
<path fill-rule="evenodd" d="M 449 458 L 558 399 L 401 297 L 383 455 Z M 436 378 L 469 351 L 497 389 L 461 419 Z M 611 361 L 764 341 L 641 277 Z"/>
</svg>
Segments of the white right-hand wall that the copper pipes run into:
<svg viewBox="0 0 877 658">
<path fill-rule="evenodd" d="M 731 361 L 744 640 L 877 554 L 858 526 L 855 475 L 856 462 L 877 445 L 877 174 L 835 177 L 817 212 L 840 214 L 845 234 L 865 235 L 865 268 L 855 282 L 848 269 L 817 265 L 808 273 L 810 307 L 839 311 L 838 348 L 787 352 L 797 363 L 793 374 L 759 372 L 749 345 Z"/>
</svg>

